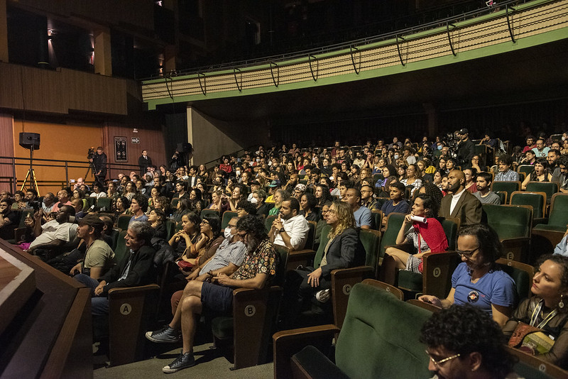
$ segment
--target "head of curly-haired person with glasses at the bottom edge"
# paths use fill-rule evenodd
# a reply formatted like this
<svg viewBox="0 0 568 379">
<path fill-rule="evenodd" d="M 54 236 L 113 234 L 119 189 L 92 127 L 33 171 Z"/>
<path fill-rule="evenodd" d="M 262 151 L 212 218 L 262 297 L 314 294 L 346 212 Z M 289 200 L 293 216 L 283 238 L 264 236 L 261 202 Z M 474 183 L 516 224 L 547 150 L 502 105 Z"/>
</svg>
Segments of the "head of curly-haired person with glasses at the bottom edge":
<svg viewBox="0 0 568 379">
<path fill-rule="evenodd" d="M 420 342 L 427 345 L 432 379 L 521 379 L 513 372 L 515 358 L 505 350 L 499 326 L 471 305 L 433 313 L 422 326 Z"/>
</svg>

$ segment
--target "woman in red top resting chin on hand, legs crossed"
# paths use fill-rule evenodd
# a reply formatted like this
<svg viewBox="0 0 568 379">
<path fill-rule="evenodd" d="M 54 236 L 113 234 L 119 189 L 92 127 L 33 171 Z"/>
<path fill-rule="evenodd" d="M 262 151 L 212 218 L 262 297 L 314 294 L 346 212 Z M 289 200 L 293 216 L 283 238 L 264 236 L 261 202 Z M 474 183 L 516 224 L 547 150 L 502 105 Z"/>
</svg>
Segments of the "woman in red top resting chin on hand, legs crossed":
<svg viewBox="0 0 568 379">
<path fill-rule="evenodd" d="M 428 194 L 419 194 L 416 197 L 413 210 L 405 216 L 396 237 L 397 245 L 412 243 L 416 253 L 410 254 L 395 247 L 388 247 L 385 251 L 394 258 L 398 269 L 422 273 L 422 256 L 425 253 L 441 253 L 448 248 L 442 224 L 435 219 L 438 207 L 434 197 Z M 413 216 L 426 219 L 427 222 L 414 221 Z"/>
</svg>

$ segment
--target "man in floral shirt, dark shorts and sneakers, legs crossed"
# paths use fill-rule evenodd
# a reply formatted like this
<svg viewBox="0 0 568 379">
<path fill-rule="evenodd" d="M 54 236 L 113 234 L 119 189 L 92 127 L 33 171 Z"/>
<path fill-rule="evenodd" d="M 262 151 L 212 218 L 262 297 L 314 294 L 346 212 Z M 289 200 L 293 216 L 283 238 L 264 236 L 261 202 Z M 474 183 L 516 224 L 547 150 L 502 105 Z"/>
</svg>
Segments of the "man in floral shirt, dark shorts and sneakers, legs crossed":
<svg viewBox="0 0 568 379">
<path fill-rule="evenodd" d="M 168 328 L 174 331 L 179 331 L 181 328 L 182 352 L 178 358 L 163 368 L 164 373 L 175 373 L 195 365 L 193 356 L 195 331 L 204 308 L 213 312 L 231 312 L 235 288 L 261 289 L 275 275 L 278 254 L 266 236 L 263 221 L 249 215 L 240 219 L 236 225 L 237 233 L 243 238 L 248 250 L 246 258 L 239 269 L 230 276 L 217 273 L 215 276 L 208 275 L 212 282 L 191 280 L 187 283 L 174 317 L 177 322 L 165 328 L 166 332 L 169 331 Z M 152 332 L 150 336 L 157 336 L 160 332 L 163 331 Z"/>
</svg>

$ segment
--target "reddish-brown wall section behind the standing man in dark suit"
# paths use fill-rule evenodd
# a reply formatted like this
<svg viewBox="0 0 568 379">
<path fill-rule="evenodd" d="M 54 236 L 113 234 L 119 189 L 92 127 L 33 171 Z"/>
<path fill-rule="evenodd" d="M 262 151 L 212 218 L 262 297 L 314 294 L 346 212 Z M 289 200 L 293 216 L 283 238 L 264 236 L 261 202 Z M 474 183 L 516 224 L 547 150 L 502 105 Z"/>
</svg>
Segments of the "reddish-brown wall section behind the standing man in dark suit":
<svg viewBox="0 0 568 379">
<path fill-rule="evenodd" d="M 103 128 L 104 150 L 107 152 L 110 163 L 116 163 L 114 160 L 114 137 L 126 137 L 126 148 L 128 162 L 125 164 L 138 166 L 138 158 L 142 155 L 142 150 L 148 150 L 148 156 L 152 158 L 154 165 L 163 165 L 166 162 L 165 143 L 162 129 L 142 129 L 138 128 L 138 133 L 134 133 L 134 129 L 127 126 L 120 126 L 113 123 L 107 123 Z M 139 138 L 140 143 L 132 143 L 132 138 Z M 168 157 L 169 158 L 169 157 Z M 119 172 L 125 174 L 130 172 L 131 167 L 124 167 L 123 170 L 115 169 L 109 172 L 111 177 L 116 178 Z M 139 170 L 135 169 L 138 173 Z"/>
</svg>

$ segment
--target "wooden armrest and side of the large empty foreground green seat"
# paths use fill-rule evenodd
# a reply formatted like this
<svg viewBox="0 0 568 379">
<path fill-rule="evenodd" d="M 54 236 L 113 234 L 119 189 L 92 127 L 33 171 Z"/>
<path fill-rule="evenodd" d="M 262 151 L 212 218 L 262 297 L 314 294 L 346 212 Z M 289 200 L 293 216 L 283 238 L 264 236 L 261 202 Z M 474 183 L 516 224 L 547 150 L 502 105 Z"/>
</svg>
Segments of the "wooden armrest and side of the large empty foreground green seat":
<svg viewBox="0 0 568 379">
<path fill-rule="evenodd" d="M 274 341 L 274 378 L 292 378 L 290 366 L 292 356 L 310 345 L 323 352 L 329 351 L 332 339 L 337 333 L 339 333 L 339 328 L 331 324 L 275 333 L 272 337 Z"/>
</svg>

